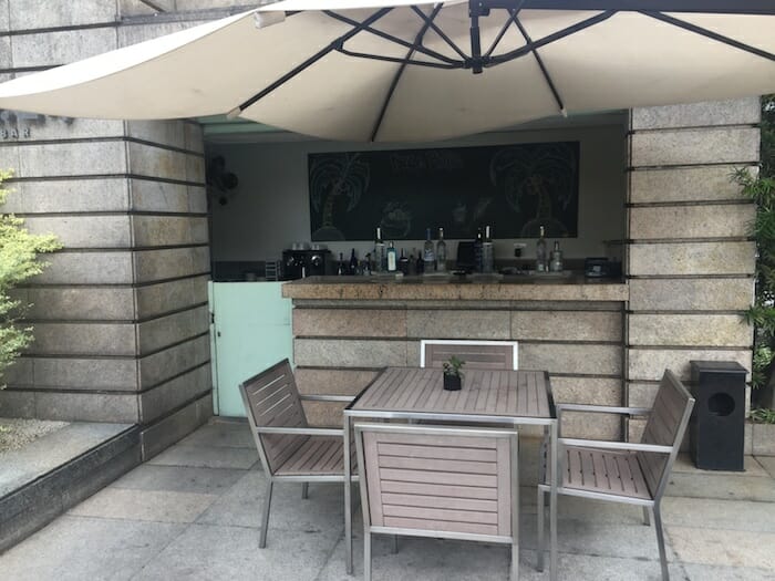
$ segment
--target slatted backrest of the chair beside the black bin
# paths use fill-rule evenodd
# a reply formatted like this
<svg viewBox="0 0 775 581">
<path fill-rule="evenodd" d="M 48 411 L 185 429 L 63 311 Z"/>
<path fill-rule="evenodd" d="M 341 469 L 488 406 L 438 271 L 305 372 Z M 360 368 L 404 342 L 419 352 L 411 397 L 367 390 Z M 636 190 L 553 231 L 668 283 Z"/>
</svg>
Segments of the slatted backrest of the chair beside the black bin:
<svg viewBox="0 0 775 581">
<path fill-rule="evenodd" d="M 638 452 L 638 463 L 653 498 L 660 497 L 664 491 L 668 469 L 678 455 L 693 406 L 694 398 L 686 387 L 673 372 L 664 370 L 641 443 L 672 446 L 673 450 L 669 456 L 653 452 Z"/>
</svg>

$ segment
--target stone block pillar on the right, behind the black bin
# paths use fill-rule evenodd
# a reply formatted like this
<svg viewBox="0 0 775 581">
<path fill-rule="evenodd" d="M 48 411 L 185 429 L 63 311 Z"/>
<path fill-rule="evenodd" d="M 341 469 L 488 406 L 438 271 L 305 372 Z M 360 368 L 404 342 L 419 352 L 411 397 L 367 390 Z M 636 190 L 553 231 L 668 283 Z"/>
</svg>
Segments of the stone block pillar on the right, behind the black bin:
<svg viewBox="0 0 775 581">
<path fill-rule="evenodd" d="M 636 108 L 629 133 L 626 403 L 650 406 L 665 367 L 751 370 L 755 206 L 731 179 L 760 158 L 757 97 Z"/>
</svg>

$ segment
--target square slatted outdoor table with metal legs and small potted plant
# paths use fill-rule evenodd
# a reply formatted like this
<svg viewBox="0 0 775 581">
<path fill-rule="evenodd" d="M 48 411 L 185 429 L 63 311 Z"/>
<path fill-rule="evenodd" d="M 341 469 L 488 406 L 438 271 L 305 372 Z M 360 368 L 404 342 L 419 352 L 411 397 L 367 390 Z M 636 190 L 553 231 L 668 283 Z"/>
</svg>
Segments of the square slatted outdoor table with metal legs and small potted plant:
<svg viewBox="0 0 775 581">
<path fill-rule="evenodd" d="M 445 391 L 443 371 L 386 367 L 344 409 L 344 458 L 350 458 L 355 418 L 433 421 L 451 424 L 540 425 L 549 436 L 549 572 L 557 578 L 557 416 L 545 371 L 466 369 L 463 388 Z M 344 540 L 352 573 L 352 463 L 344 463 Z"/>
</svg>

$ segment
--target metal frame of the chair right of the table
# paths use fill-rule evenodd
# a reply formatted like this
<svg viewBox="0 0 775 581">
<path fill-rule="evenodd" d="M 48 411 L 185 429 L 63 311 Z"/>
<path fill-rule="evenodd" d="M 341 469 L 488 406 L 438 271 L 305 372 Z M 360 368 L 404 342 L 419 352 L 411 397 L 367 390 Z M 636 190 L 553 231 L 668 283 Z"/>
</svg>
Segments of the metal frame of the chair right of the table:
<svg viewBox="0 0 775 581">
<path fill-rule="evenodd" d="M 564 438 L 561 437 L 561 432 L 557 439 L 559 449 L 559 470 L 560 474 L 566 473 L 565 459 L 566 452 L 568 449 L 597 449 L 597 450 L 609 450 L 609 452 L 637 452 L 637 453 L 657 453 L 666 455 L 666 461 L 662 469 L 662 474 L 659 476 L 659 481 L 654 490 L 649 489 L 650 498 L 638 498 L 632 496 L 623 496 L 612 492 L 604 491 L 592 491 L 579 488 L 567 487 L 560 479 L 560 485 L 557 488 L 558 495 L 575 496 L 580 498 L 592 498 L 596 500 L 606 500 L 610 502 L 621 502 L 628 505 L 641 506 L 643 508 L 643 522 L 644 525 L 650 523 L 649 515 L 653 516 L 654 529 L 657 532 L 657 544 L 659 547 L 660 554 L 660 566 L 662 569 L 662 580 L 668 581 L 670 579 L 670 573 L 668 571 L 668 560 L 664 550 L 664 532 L 662 529 L 662 516 L 660 512 L 660 504 L 662 501 L 662 496 L 668 486 L 668 480 L 670 478 L 670 473 L 675 463 L 675 457 L 678 456 L 679 449 L 681 447 L 681 442 L 683 435 L 686 430 L 689 419 L 692 414 L 692 407 L 694 406 L 694 398 L 686 391 L 681 381 L 671 372 L 670 370 L 664 371 L 662 377 L 662 384 L 660 385 L 660 392 L 662 390 L 674 390 L 680 394 L 680 396 L 685 401 L 684 408 L 680 411 L 681 416 L 675 429 L 674 438 L 671 445 L 660 445 L 651 443 L 630 443 L 630 442 L 607 442 L 607 440 L 592 440 L 592 439 L 579 439 L 579 438 Z M 659 398 L 659 393 L 658 393 Z M 654 408 L 648 407 L 609 407 L 609 406 L 598 406 L 598 405 L 582 405 L 582 404 L 557 404 L 557 421 L 559 424 L 558 429 L 561 429 L 562 425 L 562 412 L 585 412 L 585 413 L 602 413 L 602 414 L 622 414 L 629 416 L 643 416 L 650 415 L 654 412 Z M 645 433 L 644 433 L 645 437 Z M 640 458 L 638 459 L 641 463 Z M 641 465 L 641 470 L 644 467 Z M 545 478 L 546 480 L 546 478 Z M 648 488 L 648 486 L 647 486 Z M 549 492 L 550 487 L 547 484 L 538 485 L 538 570 L 544 569 L 544 495 Z"/>
</svg>

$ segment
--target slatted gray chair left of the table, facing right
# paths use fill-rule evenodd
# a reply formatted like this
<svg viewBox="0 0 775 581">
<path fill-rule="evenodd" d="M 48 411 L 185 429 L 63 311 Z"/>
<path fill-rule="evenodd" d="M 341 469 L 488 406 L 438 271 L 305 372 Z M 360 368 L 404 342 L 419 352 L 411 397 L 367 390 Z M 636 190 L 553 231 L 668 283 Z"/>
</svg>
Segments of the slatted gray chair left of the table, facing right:
<svg viewBox="0 0 775 581">
<path fill-rule="evenodd" d="M 288 360 L 246 380 L 239 391 L 261 464 L 269 476 L 259 541 L 264 548 L 275 483 L 301 483 L 302 497 L 307 498 L 309 483 L 344 481 L 344 430 L 310 426 L 301 401 L 351 402 L 352 397 L 299 395 Z M 356 479 L 354 476 L 353 480 Z"/>
</svg>

